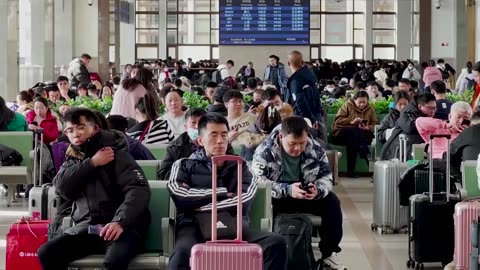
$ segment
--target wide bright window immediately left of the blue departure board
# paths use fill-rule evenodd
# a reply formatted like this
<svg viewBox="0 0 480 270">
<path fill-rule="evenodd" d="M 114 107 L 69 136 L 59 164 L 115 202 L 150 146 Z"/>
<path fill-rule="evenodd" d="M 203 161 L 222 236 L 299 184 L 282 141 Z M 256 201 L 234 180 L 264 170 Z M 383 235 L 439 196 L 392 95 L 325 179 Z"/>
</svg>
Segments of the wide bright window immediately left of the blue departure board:
<svg viewBox="0 0 480 270">
<path fill-rule="evenodd" d="M 218 60 L 219 1 L 166 1 L 168 56 Z"/>
</svg>

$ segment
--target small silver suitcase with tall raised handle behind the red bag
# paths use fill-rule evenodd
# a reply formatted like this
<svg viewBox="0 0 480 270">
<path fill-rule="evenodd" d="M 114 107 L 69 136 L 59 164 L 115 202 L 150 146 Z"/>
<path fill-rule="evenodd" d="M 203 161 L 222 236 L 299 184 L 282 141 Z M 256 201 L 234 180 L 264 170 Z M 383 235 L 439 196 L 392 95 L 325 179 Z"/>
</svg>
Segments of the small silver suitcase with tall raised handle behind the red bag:
<svg viewBox="0 0 480 270">
<path fill-rule="evenodd" d="M 53 220 L 57 214 L 57 195 L 52 184 L 43 184 L 43 131 L 34 131 L 33 183 L 28 197 L 28 213 L 34 219 Z"/>
</svg>

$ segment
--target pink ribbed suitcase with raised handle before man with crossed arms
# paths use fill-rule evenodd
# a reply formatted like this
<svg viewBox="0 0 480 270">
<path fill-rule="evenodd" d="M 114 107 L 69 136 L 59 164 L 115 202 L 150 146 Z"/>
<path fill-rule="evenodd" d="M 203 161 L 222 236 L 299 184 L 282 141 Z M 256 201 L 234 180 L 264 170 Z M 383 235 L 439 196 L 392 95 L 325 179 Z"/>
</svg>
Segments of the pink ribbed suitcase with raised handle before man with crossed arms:
<svg viewBox="0 0 480 270">
<path fill-rule="evenodd" d="M 219 161 L 236 161 L 237 178 L 242 179 L 243 159 L 238 156 L 212 157 L 212 194 L 217 193 L 217 163 Z M 192 270 L 256 270 L 263 269 L 263 252 L 257 244 L 242 241 L 242 184 L 237 184 L 237 238 L 235 240 L 217 240 L 217 196 L 212 196 L 212 241 L 196 244 L 190 254 Z"/>
</svg>

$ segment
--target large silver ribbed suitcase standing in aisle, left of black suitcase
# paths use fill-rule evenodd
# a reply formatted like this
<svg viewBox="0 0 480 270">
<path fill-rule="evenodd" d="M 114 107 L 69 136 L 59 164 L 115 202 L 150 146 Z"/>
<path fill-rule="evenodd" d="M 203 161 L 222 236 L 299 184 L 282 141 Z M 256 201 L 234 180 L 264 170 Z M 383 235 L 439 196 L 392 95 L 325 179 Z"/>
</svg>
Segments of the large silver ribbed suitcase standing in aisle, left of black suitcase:
<svg viewBox="0 0 480 270">
<path fill-rule="evenodd" d="M 407 138 L 400 135 L 400 158 L 402 160 L 381 160 L 374 165 L 374 196 L 372 231 L 381 229 L 397 233 L 408 226 L 408 207 L 400 206 L 398 184 L 407 170 Z"/>
</svg>

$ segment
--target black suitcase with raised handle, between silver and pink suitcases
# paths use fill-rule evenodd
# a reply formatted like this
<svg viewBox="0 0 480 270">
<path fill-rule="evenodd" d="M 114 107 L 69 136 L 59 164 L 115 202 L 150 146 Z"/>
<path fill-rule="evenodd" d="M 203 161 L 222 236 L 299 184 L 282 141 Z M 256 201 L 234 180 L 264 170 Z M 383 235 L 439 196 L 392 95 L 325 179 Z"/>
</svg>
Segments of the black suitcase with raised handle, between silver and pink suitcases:
<svg viewBox="0 0 480 270">
<path fill-rule="evenodd" d="M 450 134 L 430 135 L 434 138 L 447 138 Z M 432 151 L 430 151 L 432 152 Z M 430 162 L 433 158 L 430 154 Z M 423 263 L 441 262 L 443 265 L 452 261 L 454 253 L 455 204 L 458 196 L 450 194 L 450 146 L 447 149 L 446 192 L 433 192 L 433 166 L 429 169 L 429 192 L 410 197 L 408 224 L 407 267 L 423 269 Z"/>
</svg>

